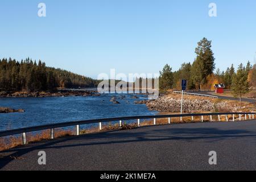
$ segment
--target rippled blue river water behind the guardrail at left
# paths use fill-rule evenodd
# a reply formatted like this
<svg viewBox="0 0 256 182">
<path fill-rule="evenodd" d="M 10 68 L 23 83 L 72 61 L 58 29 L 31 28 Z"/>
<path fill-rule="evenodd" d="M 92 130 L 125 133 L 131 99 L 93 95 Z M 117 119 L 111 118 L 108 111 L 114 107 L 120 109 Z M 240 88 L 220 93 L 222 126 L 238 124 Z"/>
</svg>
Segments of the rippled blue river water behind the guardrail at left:
<svg viewBox="0 0 256 182">
<path fill-rule="evenodd" d="M 137 96 L 138 98 L 134 98 Z M 112 97 L 120 104 L 110 102 Z M 25 113 L 0 114 L 0 131 L 45 125 L 48 123 L 86 119 L 155 115 L 146 105 L 134 104 L 146 100 L 142 94 L 101 94 L 89 97 L 0 98 L 1 107 L 24 109 Z M 135 121 L 134 121 L 135 122 Z M 90 127 L 83 126 L 84 128 Z"/>
</svg>

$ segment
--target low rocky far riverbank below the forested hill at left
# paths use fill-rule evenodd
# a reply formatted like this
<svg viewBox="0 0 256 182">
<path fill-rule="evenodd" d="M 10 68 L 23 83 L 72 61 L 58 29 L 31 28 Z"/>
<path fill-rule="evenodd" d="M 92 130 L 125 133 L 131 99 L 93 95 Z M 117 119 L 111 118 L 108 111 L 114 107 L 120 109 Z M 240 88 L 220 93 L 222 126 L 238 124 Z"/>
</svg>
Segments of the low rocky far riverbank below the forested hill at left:
<svg viewBox="0 0 256 182">
<path fill-rule="evenodd" d="M 69 96 L 100 96 L 92 90 L 58 90 L 56 92 L 0 92 L 0 97 L 69 97 Z"/>
</svg>

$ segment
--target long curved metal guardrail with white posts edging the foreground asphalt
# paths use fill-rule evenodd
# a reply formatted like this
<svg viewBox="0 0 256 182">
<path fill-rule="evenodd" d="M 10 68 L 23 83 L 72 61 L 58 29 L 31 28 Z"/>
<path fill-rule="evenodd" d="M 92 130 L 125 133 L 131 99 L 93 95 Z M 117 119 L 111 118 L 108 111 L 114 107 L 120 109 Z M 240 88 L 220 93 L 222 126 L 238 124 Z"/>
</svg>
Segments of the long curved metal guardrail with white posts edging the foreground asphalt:
<svg viewBox="0 0 256 182">
<path fill-rule="evenodd" d="M 154 125 L 156 125 L 156 119 L 158 119 L 158 118 L 168 118 L 168 123 L 171 124 L 171 118 L 177 118 L 177 117 L 181 117 L 181 118 L 191 117 L 191 120 L 195 121 L 194 117 L 200 116 L 201 122 L 204 122 L 204 121 L 206 121 L 206 120 L 204 120 L 204 116 L 210 116 L 209 121 L 213 121 L 213 115 L 217 115 L 218 121 L 221 121 L 220 116 L 225 115 L 226 121 L 229 121 L 228 115 L 233 115 L 233 121 L 235 121 L 235 119 L 236 119 L 235 115 L 239 115 L 239 121 L 241 121 L 242 115 L 244 115 L 245 120 L 247 120 L 248 116 L 249 116 L 249 119 L 251 119 L 251 118 L 254 119 L 255 114 L 256 113 L 203 113 L 203 114 L 147 115 L 147 116 L 134 116 L 134 117 L 91 119 L 91 120 L 85 120 L 85 121 L 63 122 L 63 123 L 55 123 L 55 124 L 42 125 L 42 126 L 25 127 L 22 129 L 15 129 L 15 130 L 0 131 L 0 137 L 22 134 L 23 144 L 27 144 L 26 133 L 50 129 L 51 130 L 51 139 L 54 139 L 54 129 L 60 128 L 60 127 L 76 126 L 76 135 L 80 135 L 80 125 L 93 124 L 93 123 L 99 123 L 100 130 L 102 130 L 102 123 L 119 121 L 119 125 L 121 127 L 122 121 L 129 121 L 129 120 L 133 120 L 133 119 L 137 119 L 138 127 L 139 127 L 141 119 L 154 119 Z"/>
</svg>

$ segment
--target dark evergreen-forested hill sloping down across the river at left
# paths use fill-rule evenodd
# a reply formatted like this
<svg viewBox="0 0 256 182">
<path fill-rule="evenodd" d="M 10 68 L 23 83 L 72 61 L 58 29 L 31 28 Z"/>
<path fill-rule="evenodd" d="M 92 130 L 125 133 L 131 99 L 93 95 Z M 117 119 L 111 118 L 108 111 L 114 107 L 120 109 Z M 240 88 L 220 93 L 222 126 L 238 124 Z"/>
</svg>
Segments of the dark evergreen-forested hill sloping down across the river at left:
<svg viewBox="0 0 256 182">
<path fill-rule="evenodd" d="M 40 91 L 56 88 L 96 87 L 97 80 L 65 71 L 46 67 L 42 61 L 26 59 L 0 59 L 0 90 Z"/>
</svg>

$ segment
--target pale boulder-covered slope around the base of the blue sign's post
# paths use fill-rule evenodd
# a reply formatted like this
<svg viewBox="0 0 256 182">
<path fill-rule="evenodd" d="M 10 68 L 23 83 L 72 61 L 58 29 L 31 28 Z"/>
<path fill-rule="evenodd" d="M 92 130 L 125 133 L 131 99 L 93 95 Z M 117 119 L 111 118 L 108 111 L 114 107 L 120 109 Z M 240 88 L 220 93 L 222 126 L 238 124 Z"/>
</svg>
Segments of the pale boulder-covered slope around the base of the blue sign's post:
<svg viewBox="0 0 256 182">
<path fill-rule="evenodd" d="M 180 111 L 181 99 L 175 96 L 162 96 L 157 100 L 147 102 L 149 110 L 176 113 Z M 183 100 L 183 111 L 195 113 L 198 111 L 219 111 L 229 109 L 226 101 L 207 100 L 205 98 L 185 98 Z"/>
</svg>

